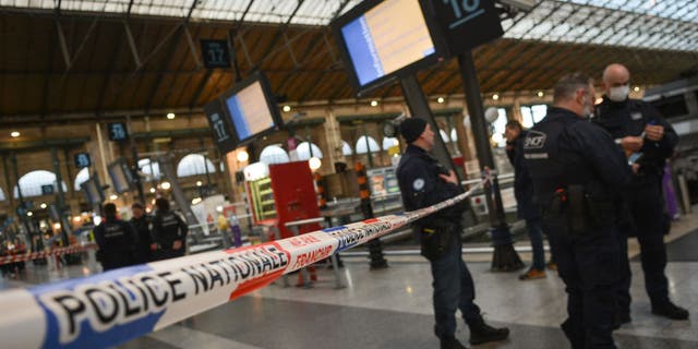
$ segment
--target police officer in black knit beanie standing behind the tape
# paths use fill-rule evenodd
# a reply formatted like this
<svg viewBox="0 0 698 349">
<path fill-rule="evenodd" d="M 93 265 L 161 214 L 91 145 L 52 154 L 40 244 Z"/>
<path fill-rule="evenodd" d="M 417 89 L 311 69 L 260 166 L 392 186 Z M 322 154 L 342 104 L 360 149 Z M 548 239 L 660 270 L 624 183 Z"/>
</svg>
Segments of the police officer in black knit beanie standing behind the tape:
<svg viewBox="0 0 698 349">
<path fill-rule="evenodd" d="M 397 167 L 405 209 L 428 207 L 462 193 L 456 174 L 428 154 L 434 146 L 434 132 L 426 121 L 406 119 L 399 129 L 409 144 Z M 502 340 L 509 335 L 508 328 L 485 324 L 473 302 L 474 285 L 461 257 L 462 210 L 461 205 L 447 207 L 419 219 L 413 226 L 420 237 L 422 255 L 431 262 L 436 317 L 434 333 L 442 349 L 466 348 L 455 337 L 457 309 L 470 328 L 471 344 Z"/>
</svg>

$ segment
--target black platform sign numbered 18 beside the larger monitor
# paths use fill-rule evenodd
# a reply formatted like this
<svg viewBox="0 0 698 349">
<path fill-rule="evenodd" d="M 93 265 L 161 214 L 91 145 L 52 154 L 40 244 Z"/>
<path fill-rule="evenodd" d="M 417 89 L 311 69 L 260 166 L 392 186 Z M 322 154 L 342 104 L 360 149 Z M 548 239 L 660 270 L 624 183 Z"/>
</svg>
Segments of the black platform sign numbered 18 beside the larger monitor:
<svg viewBox="0 0 698 349">
<path fill-rule="evenodd" d="M 491 0 L 420 0 L 428 22 L 436 24 L 449 57 L 504 35 Z"/>
</svg>

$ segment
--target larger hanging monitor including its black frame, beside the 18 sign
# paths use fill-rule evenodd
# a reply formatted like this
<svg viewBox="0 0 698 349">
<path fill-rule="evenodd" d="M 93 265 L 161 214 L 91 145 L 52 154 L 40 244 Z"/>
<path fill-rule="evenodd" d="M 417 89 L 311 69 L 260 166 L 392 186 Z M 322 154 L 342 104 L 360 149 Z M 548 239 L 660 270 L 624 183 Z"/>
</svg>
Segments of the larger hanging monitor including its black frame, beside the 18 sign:
<svg viewBox="0 0 698 349">
<path fill-rule="evenodd" d="M 364 1 L 332 23 L 350 80 L 359 91 L 437 62 L 441 50 L 430 27 L 414 0 Z"/>
</svg>

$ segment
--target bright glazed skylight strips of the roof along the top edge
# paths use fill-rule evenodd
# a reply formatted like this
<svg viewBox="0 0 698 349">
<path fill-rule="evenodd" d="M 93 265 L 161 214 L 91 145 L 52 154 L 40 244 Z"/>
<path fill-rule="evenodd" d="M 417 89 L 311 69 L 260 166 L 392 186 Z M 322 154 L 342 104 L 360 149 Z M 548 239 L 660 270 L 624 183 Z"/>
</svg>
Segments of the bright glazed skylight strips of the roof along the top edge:
<svg viewBox="0 0 698 349">
<path fill-rule="evenodd" d="M 695 0 L 531 0 L 505 37 L 698 51 Z M 0 7 L 323 26 L 360 0 L 0 0 Z"/>
</svg>

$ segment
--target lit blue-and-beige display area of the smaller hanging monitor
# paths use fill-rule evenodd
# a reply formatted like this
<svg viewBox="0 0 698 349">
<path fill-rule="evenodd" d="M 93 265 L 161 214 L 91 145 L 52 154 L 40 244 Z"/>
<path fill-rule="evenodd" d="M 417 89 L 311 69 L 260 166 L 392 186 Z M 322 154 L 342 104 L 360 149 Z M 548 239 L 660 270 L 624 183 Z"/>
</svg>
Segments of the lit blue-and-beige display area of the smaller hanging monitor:
<svg viewBox="0 0 698 349">
<path fill-rule="evenodd" d="M 226 99 L 238 140 L 241 142 L 275 127 L 262 83 L 256 81 Z"/>
</svg>

